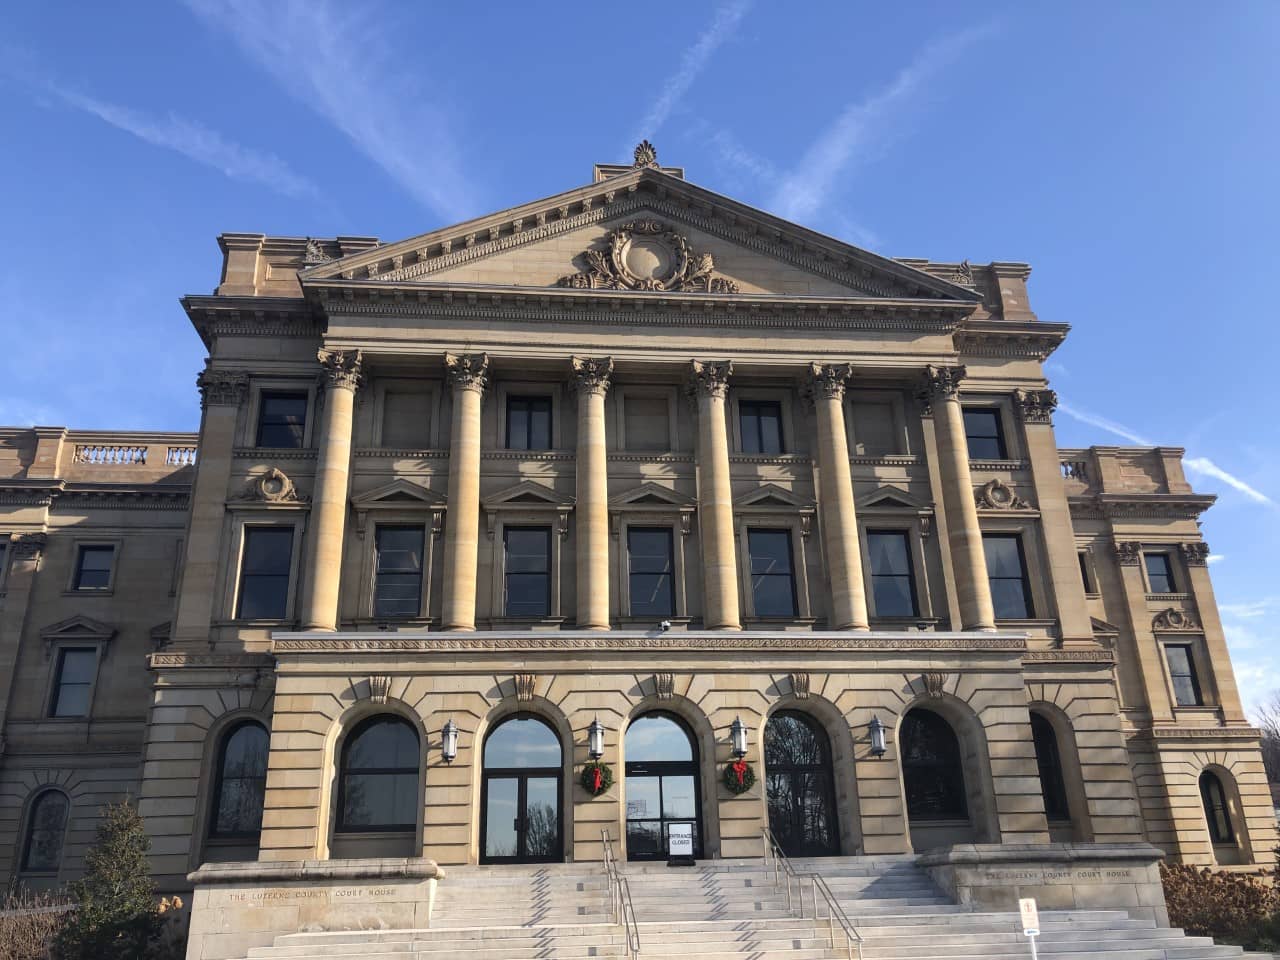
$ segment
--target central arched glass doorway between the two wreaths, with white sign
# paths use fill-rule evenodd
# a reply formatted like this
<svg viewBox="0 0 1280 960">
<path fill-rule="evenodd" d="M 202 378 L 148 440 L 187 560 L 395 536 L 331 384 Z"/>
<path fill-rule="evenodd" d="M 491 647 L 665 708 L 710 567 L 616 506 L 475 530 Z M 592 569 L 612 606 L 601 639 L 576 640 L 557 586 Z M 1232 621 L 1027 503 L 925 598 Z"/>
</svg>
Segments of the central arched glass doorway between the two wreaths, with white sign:
<svg viewBox="0 0 1280 960">
<path fill-rule="evenodd" d="M 703 855 L 698 746 L 672 713 L 631 721 L 626 751 L 627 859 L 664 860 L 672 822 L 694 824 L 694 856 Z"/>
</svg>

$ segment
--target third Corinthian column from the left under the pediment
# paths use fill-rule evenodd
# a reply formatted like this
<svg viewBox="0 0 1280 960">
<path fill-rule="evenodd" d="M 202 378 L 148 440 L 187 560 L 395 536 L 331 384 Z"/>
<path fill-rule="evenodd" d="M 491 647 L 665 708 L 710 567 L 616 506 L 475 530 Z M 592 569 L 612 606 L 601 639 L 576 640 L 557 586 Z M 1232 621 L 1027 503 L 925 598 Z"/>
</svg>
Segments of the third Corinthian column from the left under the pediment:
<svg viewBox="0 0 1280 960">
<path fill-rule="evenodd" d="M 604 394 L 611 357 L 573 357 L 577 392 L 577 626 L 609 628 L 609 472 Z"/>
</svg>

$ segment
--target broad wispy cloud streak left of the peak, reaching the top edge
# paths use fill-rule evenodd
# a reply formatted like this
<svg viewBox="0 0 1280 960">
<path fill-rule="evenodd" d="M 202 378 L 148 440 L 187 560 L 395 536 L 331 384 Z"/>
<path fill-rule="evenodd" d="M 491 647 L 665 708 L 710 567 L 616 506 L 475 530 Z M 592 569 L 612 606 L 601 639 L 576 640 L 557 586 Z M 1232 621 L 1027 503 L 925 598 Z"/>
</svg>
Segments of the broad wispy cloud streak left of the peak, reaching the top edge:
<svg viewBox="0 0 1280 960">
<path fill-rule="evenodd" d="M 451 220 L 479 211 L 454 124 L 425 78 L 389 63 L 392 37 L 376 26 L 384 18 L 329 0 L 186 3 L 420 204 Z"/>
</svg>

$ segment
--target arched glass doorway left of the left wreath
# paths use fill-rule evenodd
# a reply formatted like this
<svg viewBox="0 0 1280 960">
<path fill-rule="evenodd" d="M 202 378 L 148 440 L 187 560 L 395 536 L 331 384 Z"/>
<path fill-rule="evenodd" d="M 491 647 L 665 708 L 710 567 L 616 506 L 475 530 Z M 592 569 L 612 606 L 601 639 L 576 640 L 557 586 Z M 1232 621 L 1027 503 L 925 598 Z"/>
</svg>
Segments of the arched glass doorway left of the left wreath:
<svg viewBox="0 0 1280 960">
<path fill-rule="evenodd" d="M 480 863 L 563 859 L 559 737 L 532 714 L 504 719 L 485 739 Z"/>
</svg>

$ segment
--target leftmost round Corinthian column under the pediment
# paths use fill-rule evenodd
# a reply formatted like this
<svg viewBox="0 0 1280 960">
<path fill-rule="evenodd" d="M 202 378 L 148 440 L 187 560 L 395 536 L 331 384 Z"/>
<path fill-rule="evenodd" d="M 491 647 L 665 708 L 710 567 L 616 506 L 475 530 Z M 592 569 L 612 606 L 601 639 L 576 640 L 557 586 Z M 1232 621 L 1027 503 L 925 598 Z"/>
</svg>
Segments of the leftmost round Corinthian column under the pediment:
<svg viewBox="0 0 1280 960">
<path fill-rule="evenodd" d="M 342 541 L 351 485 L 351 420 L 360 388 L 361 356 L 358 349 L 321 349 L 316 357 L 324 367 L 325 404 L 311 497 L 311 552 L 303 579 L 302 628 L 337 630 Z"/>
</svg>

